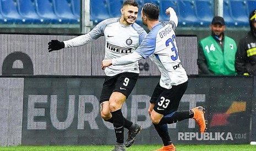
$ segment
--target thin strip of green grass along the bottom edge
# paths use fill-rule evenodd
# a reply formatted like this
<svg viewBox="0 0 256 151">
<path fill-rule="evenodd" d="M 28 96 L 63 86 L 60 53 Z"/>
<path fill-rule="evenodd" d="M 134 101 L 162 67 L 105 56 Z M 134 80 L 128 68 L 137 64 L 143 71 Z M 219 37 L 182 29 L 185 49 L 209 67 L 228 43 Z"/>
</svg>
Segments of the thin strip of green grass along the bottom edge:
<svg viewBox="0 0 256 151">
<path fill-rule="evenodd" d="M 126 148 L 127 151 L 150 151 L 160 148 L 160 145 L 136 145 Z M 110 151 L 114 146 L 16 146 L 16 147 L 0 147 L 0 150 L 15 150 L 15 151 Z M 235 151 L 244 150 L 252 151 L 256 150 L 256 146 L 249 144 L 239 145 L 176 145 L 177 151 Z"/>
</svg>

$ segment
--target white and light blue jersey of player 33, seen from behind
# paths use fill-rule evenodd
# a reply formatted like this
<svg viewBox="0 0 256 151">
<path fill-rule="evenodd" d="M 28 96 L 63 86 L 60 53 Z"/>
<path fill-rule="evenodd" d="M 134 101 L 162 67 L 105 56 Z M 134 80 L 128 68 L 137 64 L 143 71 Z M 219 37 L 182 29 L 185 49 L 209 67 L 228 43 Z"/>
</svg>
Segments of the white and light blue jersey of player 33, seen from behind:
<svg viewBox="0 0 256 151">
<path fill-rule="evenodd" d="M 155 62 L 161 72 L 160 85 L 166 89 L 188 80 L 178 56 L 175 27 L 172 21 L 159 22 L 136 50 L 144 59 L 150 57 Z"/>
</svg>

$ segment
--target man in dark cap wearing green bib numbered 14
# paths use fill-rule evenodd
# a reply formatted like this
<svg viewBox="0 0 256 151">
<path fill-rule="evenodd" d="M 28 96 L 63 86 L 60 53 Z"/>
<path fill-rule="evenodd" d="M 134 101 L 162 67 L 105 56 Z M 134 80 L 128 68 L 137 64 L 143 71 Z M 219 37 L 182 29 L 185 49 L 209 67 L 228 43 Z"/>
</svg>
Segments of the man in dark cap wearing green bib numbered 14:
<svg viewBox="0 0 256 151">
<path fill-rule="evenodd" d="M 235 40 L 224 34 L 225 21 L 215 16 L 211 22 L 211 35 L 203 38 L 198 44 L 199 74 L 236 75 Z"/>
</svg>

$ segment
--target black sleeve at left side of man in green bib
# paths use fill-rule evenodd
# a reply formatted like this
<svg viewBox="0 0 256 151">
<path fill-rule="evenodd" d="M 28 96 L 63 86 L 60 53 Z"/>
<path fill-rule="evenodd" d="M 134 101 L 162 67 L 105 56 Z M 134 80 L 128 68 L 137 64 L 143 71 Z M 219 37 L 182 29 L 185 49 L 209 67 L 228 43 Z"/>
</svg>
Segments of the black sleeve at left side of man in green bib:
<svg viewBox="0 0 256 151">
<path fill-rule="evenodd" d="M 211 72 L 207 66 L 207 62 L 204 55 L 204 50 L 200 44 L 198 44 L 198 59 L 197 59 L 198 69 L 201 74 L 214 74 Z"/>
</svg>

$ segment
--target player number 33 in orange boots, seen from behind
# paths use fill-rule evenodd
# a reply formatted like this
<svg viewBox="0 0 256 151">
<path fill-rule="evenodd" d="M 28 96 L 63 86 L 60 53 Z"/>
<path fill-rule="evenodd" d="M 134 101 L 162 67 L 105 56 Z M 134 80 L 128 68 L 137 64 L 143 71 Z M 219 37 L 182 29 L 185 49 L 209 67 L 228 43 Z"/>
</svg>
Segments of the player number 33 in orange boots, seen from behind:
<svg viewBox="0 0 256 151">
<path fill-rule="evenodd" d="M 170 15 L 170 20 L 159 21 L 159 12 L 157 5 L 146 3 L 141 10 L 141 19 L 150 32 L 132 54 L 112 60 L 103 60 L 101 68 L 126 65 L 150 57 L 161 72 L 160 82 L 151 96 L 149 107 L 152 123 L 164 143 L 164 147 L 157 150 L 174 151 L 176 148 L 168 135 L 167 124 L 193 118 L 203 133 L 206 123 L 203 107 L 177 111 L 188 86 L 187 73 L 179 60 L 176 45 L 175 29 L 178 25 L 178 18 L 175 10 L 168 8 L 166 14 Z"/>
</svg>

